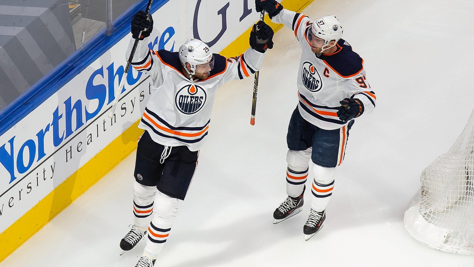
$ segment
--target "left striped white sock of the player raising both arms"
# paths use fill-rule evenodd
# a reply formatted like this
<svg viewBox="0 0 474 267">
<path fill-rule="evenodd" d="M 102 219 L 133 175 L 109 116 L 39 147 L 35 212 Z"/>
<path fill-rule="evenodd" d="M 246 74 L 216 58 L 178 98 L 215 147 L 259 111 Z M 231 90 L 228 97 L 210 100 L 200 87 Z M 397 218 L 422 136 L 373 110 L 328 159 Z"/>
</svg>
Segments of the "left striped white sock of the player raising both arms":
<svg viewBox="0 0 474 267">
<path fill-rule="evenodd" d="M 150 224 L 156 191 L 155 186 L 133 183 L 133 223 L 141 230 L 146 230 Z"/>
</svg>

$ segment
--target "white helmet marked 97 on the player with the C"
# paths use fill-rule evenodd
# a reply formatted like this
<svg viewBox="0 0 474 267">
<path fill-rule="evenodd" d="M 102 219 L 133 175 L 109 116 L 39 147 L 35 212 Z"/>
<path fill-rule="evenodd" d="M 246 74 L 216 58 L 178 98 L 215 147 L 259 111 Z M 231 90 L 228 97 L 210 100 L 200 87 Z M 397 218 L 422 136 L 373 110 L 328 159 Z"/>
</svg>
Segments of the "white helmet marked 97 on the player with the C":
<svg viewBox="0 0 474 267">
<path fill-rule="evenodd" d="M 310 43 L 313 39 L 315 39 L 315 37 L 317 37 L 324 40 L 324 46 L 328 46 L 331 40 L 336 40 L 335 43 L 337 43 L 342 37 L 342 32 L 343 28 L 339 20 L 336 18 L 336 16 L 330 15 L 316 19 L 311 27 L 308 28 L 307 37 Z M 335 45 L 336 44 L 333 46 Z M 325 47 L 322 49 L 322 51 L 329 49 L 330 47 Z"/>
</svg>

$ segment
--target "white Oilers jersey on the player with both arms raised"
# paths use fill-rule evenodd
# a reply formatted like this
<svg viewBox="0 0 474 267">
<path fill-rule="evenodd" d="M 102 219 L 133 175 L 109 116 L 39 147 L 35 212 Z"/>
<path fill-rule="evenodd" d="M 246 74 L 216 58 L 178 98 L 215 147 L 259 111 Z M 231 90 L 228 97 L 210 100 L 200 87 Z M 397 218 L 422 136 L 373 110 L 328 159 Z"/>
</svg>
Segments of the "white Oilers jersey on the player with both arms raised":
<svg viewBox="0 0 474 267">
<path fill-rule="evenodd" d="M 130 55 L 135 39 L 130 40 Z M 187 146 L 199 150 L 208 134 L 210 114 L 217 89 L 233 79 L 244 79 L 262 65 L 264 54 L 252 48 L 229 59 L 214 54 L 214 68 L 204 80 L 191 81 L 182 73 L 178 52 L 148 49 L 145 38 L 138 42 L 131 65 L 146 71 L 155 89 L 138 125 L 165 146 Z"/>
</svg>

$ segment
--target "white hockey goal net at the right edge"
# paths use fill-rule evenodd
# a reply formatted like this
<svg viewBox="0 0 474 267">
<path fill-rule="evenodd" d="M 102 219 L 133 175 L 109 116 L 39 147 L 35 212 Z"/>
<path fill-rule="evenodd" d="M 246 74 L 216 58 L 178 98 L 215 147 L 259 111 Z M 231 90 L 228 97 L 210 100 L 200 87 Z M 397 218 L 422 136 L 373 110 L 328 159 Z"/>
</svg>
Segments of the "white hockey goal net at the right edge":
<svg viewBox="0 0 474 267">
<path fill-rule="evenodd" d="M 474 110 L 454 145 L 426 167 L 405 212 L 408 233 L 428 247 L 474 254 Z"/>
</svg>

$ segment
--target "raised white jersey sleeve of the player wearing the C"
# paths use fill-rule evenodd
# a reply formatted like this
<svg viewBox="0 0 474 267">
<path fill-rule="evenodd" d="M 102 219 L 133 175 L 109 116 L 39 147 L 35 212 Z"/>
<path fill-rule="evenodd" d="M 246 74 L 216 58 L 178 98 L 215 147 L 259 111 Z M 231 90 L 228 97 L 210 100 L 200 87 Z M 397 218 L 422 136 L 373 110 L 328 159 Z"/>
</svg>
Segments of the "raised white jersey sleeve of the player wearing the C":
<svg viewBox="0 0 474 267">
<path fill-rule="evenodd" d="M 282 23 L 284 26 L 291 28 L 298 41 L 305 39 L 305 30 L 313 23 L 310 17 L 288 9 L 282 9 L 278 15 L 272 18 L 272 22 Z"/>
</svg>

